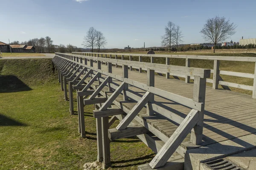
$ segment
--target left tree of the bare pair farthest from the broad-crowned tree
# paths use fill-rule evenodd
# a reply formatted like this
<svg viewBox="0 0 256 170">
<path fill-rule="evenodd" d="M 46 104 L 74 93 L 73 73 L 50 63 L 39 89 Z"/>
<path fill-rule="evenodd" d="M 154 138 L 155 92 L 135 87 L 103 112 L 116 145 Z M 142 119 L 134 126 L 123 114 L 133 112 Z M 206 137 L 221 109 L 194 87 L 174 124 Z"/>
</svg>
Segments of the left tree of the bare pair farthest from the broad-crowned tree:
<svg viewBox="0 0 256 170">
<path fill-rule="evenodd" d="M 90 27 L 87 31 L 87 35 L 84 36 L 83 44 L 85 48 L 93 48 L 97 46 L 97 30 L 93 27 Z"/>
</svg>

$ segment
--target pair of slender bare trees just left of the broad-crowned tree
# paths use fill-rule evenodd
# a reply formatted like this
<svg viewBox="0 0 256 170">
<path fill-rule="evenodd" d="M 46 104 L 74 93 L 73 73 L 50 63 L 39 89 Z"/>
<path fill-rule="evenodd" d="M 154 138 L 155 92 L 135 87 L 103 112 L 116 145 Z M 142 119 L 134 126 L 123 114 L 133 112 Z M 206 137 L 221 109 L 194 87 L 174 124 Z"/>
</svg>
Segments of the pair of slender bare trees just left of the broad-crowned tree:
<svg viewBox="0 0 256 170">
<path fill-rule="evenodd" d="M 165 34 L 161 37 L 162 39 L 162 46 L 169 47 L 169 52 L 171 52 L 172 45 L 178 48 L 178 45 L 183 42 L 182 40 L 183 34 L 180 29 L 180 26 L 175 25 L 171 21 L 168 22 L 167 26 L 165 27 Z M 177 52 L 177 51 L 176 51 Z"/>
</svg>

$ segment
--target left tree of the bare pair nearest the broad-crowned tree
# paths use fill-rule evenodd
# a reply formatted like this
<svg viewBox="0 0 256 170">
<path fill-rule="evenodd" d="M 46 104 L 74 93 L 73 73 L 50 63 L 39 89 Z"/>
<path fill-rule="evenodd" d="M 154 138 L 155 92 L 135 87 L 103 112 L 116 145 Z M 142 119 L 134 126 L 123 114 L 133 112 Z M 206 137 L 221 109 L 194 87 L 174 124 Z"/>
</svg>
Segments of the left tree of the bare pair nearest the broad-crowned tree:
<svg viewBox="0 0 256 170">
<path fill-rule="evenodd" d="M 167 26 L 165 27 L 165 34 L 161 37 L 162 46 L 168 46 L 170 52 L 171 52 L 172 37 L 173 37 L 174 29 L 175 29 L 175 24 L 169 21 Z"/>
</svg>

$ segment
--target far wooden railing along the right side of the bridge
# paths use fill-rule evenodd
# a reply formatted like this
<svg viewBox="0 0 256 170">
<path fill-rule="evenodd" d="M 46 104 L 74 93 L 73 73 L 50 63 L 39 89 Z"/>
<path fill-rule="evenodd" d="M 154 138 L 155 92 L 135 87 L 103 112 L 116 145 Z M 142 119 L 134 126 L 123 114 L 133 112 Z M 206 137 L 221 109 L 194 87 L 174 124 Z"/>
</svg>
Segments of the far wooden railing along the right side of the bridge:
<svg viewBox="0 0 256 170">
<path fill-rule="evenodd" d="M 121 59 L 124 59 L 124 56 L 129 56 L 129 60 L 131 61 L 132 57 L 139 57 L 139 61 L 142 61 L 142 57 L 150 57 L 151 63 L 154 63 L 154 58 L 165 58 L 166 65 L 170 64 L 171 58 L 180 58 L 186 59 L 186 67 L 190 67 L 191 59 L 205 59 L 205 60 L 213 60 L 214 66 L 211 69 L 211 73 L 213 74 L 212 79 L 207 79 L 207 82 L 212 83 L 213 89 L 218 89 L 218 85 L 221 85 L 222 88 L 226 90 L 230 90 L 229 87 L 241 88 L 244 90 L 253 91 L 253 98 L 256 98 L 256 67 L 254 69 L 254 74 L 249 73 L 241 73 L 241 72 L 233 72 L 233 71 L 222 71 L 219 69 L 220 61 L 239 61 L 239 62 L 256 62 L 256 57 L 227 57 L 227 56 L 194 56 L 194 55 L 164 55 L 164 54 L 119 54 L 119 53 L 90 53 L 90 52 L 73 52 L 75 55 L 83 55 L 83 56 L 94 56 L 94 57 L 115 57 L 116 59 L 119 56 L 122 56 Z M 141 71 L 141 68 L 138 68 Z M 158 71 L 157 73 L 166 74 L 166 78 L 169 78 L 168 73 L 164 73 L 162 71 Z M 235 77 L 244 77 L 253 79 L 253 86 L 251 85 L 243 85 L 234 82 L 226 82 L 221 78 L 221 75 L 227 76 L 235 76 Z M 193 76 L 189 77 L 186 75 L 173 75 L 177 77 L 185 78 L 185 82 L 189 82 L 189 79 L 194 79 Z M 229 86 L 229 87 L 228 87 Z"/>
</svg>

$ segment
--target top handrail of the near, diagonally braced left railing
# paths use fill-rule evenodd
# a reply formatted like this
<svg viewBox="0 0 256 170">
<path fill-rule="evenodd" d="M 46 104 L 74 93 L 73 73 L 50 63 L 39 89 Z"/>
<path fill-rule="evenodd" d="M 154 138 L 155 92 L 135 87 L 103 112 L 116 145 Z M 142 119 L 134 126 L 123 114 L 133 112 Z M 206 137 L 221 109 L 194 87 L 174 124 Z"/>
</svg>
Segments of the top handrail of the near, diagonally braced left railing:
<svg viewBox="0 0 256 170">
<path fill-rule="evenodd" d="M 86 58 L 86 59 L 93 59 L 96 61 L 101 62 L 111 62 L 113 64 L 121 65 L 128 65 L 134 66 L 138 68 L 150 68 L 154 71 L 159 72 L 169 72 L 173 75 L 183 75 L 183 76 L 199 76 L 201 78 L 208 78 L 210 77 L 210 69 L 204 68 L 192 68 L 192 67 L 185 67 L 185 66 L 177 66 L 177 65 L 164 65 L 158 63 L 149 63 L 149 62 L 137 62 L 137 61 L 129 61 L 129 60 L 122 60 L 122 59 L 110 59 L 110 58 L 102 58 L 102 57 L 91 57 L 91 56 L 81 56 L 81 55 L 74 55 L 74 54 L 66 54 L 66 53 L 55 53 L 62 54 L 62 55 L 72 55 L 79 58 Z"/>
</svg>

